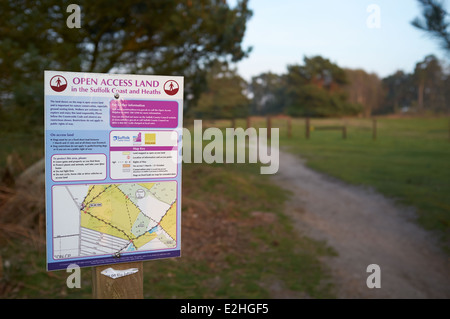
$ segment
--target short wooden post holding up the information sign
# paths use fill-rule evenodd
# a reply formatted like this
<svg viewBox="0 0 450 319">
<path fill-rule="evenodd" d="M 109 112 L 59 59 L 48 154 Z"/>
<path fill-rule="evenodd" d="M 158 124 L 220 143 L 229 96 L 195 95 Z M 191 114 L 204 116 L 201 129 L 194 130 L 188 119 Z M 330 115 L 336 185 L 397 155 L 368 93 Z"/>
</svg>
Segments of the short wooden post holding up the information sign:
<svg viewBox="0 0 450 319">
<path fill-rule="evenodd" d="M 102 275 L 107 268 L 125 270 L 137 268 L 138 272 L 112 279 Z M 119 263 L 97 266 L 92 269 L 92 297 L 94 299 L 143 299 L 144 298 L 144 267 L 143 262 Z"/>
</svg>

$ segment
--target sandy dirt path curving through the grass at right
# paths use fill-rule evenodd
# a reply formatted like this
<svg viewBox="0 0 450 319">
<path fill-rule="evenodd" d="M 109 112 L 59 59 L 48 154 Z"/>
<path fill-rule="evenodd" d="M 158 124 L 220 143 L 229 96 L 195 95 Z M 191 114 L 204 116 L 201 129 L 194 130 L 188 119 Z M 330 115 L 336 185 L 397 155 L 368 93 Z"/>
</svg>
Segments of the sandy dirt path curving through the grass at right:
<svg viewBox="0 0 450 319">
<path fill-rule="evenodd" d="M 325 262 L 338 298 L 450 298 L 450 258 L 413 222 L 413 211 L 308 169 L 286 152 L 273 178 L 294 194 L 287 213 L 296 229 L 337 251 Z M 370 264 L 381 268 L 380 289 L 366 286 Z"/>
</svg>

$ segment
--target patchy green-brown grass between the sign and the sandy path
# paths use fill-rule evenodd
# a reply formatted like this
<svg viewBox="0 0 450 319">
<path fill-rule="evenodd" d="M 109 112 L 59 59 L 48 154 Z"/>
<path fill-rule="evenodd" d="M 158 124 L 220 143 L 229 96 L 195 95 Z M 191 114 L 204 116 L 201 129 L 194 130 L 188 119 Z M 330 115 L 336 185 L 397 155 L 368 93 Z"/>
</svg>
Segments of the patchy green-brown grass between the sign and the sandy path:
<svg viewBox="0 0 450 319">
<path fill-rule="evenodd" d="M 333 255 L 333 251 L 323 243 L 296 234 L 283 213 L 289 194 L 273 185 L 267 176 L 259 175 L 258 165 L 187 164 L 183 188 L 191 200 L 206 203 L 218 222 L 231 223 L 233 231 L 229 229 L 225 238 L 215 243 L 201 242 L 202 246 L 210 244 L 214 258 L 186 252 L 185 257 L 158 262 L 158 266 L 147 263 L 153 271 L 146 275 L 146 283 L 152 287 L 146 291 L 154 292 L 148 297 L 270 298 L 271 285 L 278 281 L 294 294 L 334 296 L 329 271 L 320 262 L 321 256 Z M 255 211 L 273 216 L 276 222 L 255 220 Z M 188 214 L 189 207 L 184 207 L 183 212 Z M 214 217 L 205 217 L 211 220 L 214 232 Z M 208 227 L 207 222 L 203 225 Z M 212 237 L 206 239 L 214 241 Z M 230 245 L 214 251 L 214 246 L 223 240 Z M 188 239 L 185 242 L 184 245 L 195 244 Z"/>
</svg>

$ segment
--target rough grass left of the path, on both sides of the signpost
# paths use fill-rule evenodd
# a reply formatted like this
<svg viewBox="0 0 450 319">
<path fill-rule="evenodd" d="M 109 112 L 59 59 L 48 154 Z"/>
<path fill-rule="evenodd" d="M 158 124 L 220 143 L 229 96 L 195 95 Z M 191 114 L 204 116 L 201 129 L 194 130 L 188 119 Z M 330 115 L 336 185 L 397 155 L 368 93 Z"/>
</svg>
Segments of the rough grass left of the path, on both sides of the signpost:
<svg viewBox="0 0 450 319">
<path fill-rule="evenodd" d="M 290 194 L 259 168 L 183 165 L 182 257 L 144 263 L 145 298 L 270 298 L 273 287 L 288 296 L 334 297 L 320 261 L 334 252 L 299 237 L 283 213 Z M 43 240 L 3 241 L 0 256 L 2 298 L 91 298 L 91 269 L 81 269 L 81 289 L 67 288 L 69 273 L 46 272 Z"/>
</svg>

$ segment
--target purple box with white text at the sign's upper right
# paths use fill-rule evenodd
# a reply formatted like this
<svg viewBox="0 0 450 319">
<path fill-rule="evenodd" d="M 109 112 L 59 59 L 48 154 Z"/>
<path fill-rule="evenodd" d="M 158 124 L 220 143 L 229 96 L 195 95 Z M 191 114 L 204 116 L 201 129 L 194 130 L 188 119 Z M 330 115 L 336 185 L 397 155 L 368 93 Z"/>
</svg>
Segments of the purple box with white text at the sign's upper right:
<svg viewBox="0 0 450 319">
<path fill-rule="evenodd" d="M 110 115 L 112 127 L 176 128 L 178 102 L 112 100 Z"/>
</svg>

